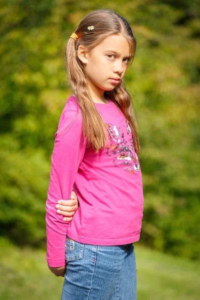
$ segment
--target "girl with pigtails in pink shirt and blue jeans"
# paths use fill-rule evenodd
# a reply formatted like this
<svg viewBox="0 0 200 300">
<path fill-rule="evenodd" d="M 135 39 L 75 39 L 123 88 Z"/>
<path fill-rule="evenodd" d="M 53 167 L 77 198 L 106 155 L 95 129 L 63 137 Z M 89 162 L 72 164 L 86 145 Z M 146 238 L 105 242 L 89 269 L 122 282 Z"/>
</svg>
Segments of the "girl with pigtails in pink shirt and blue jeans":
<svg viewBox="0 0 200 300">
<path fill-rule="evenodd" d="M 139 138 L 123 76 L 136 40 L 128 22 L 99 9 L 66 45 L 73 94 L 61 113 L 46 200 L 47 263 L 64 275 L 62 300 L 135 300 L 133 242 L 139 240 L 143 191 Z M 79 206 L 70 222 L 56 213 L 71 190 Z"/>
</svg>

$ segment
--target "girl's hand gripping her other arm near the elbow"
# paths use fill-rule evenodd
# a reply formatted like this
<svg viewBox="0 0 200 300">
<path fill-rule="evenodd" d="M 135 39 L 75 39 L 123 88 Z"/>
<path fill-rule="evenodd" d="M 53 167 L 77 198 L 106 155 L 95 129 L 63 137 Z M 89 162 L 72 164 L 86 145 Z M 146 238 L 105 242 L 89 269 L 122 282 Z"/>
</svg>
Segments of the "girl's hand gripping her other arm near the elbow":
<svg viewBox="0 0 200 300">
<path fill-rule="evenodd" d="M 72 190 L 69 200 L 60 199 L 57 201 L 58 204 L 55 205 L 57 208 L 57 213 L 64 215 L 64 221 L 71 221 L 74 212 L 78 208 L 78 199 L 76 193 Z"/>
</svg>

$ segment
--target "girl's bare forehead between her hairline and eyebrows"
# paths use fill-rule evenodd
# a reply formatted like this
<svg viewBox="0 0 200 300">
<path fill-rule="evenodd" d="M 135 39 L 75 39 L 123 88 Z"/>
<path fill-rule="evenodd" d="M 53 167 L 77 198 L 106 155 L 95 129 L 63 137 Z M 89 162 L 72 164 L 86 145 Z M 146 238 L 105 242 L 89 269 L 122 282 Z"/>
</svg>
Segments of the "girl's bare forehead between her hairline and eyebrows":
<svg viewBox="0 0 200 300">
<path fill-rule="evenodd" d="M 128 56 L 130 54 L 129 44 L 122 35 L 109 35 L 97 46 L 101 51 L 113 50 L 118 52 L 121 56 Z"/>
</svg>

